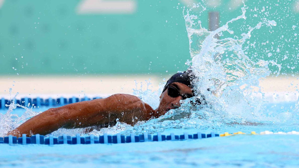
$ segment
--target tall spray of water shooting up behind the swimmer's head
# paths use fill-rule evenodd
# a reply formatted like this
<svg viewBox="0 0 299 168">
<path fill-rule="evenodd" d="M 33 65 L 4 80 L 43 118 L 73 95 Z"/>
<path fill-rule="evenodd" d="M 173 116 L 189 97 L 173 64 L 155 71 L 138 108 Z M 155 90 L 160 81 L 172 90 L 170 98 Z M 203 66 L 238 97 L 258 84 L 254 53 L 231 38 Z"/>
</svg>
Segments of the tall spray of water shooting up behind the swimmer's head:
<svg viewBox="0 0 299 168">
<path fill-rule="evenodd" d="M 229 111 L 229 114 L 240 115 L 237 112 L 239 111 L 247 115 L 254 113 L 252 107 L 260 105 L 258 102 L 250 101 L 255 99 L 252 97 L 252 93 L 255 92 L 253 87 L 258 88 L 259 79 L 269 76 L 271 73 L 268 68 L 269 63 L 275 63 L 274 61 L 264 60 L 253 62 L 245 54 L 242 47 L 245 41 L 251 37 L 253 30 L 260 29 L 263 25 L 271 28 L 271 26 L 276 25 L 276 22 L 273 20 L 259 22 L 253 28 L 249 27 L 247 33 L 242 33 L 241 39 L 233 37 L 215 38 L 215 35 L 223 37 L 225 31 L 230 34 L 234 33 L 234 31 L 229 29 L 229 23 L 239 19 L 246 19 L 245 4 L 241 10 L 242 15 L 231 19 L 225 25 L 210 32 L 202 28 L 200 22 L 197 21 L 197 16 L 190 14 L 192 8 L 186 10 L 185 21 L 192 58 L 191 67 L 197 77 L 194 81 L 196 91 L 199 94 L 204 94 L 210 102 L 221 102 L 222 108 L 225 108 L 224 111 Z M 278 66 L 280 71 L 281 67 L 280 65 Z M 277 74 L 279 74 L 279 71 Z M 240 86 L 244 86 L 244 88 L 240 89 Z M 218 97 L 217 100 L 207 91 L 207 88 L 212 89 L 213 93 Z M 257 92 L 263 95 L 260 89 Z M 242 105 L 243 109 L 236 109 L 240 105 Z M 249 116 L 242 116 L 242 118 L 245 117 Z"/>
</svg>

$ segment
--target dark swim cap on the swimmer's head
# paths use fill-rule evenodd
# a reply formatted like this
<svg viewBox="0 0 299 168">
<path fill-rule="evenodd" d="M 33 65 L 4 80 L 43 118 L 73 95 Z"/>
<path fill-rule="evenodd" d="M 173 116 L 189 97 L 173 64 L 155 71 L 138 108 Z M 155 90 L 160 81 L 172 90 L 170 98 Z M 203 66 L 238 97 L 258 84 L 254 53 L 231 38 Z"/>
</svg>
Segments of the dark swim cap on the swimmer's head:
<svg viewBox="0 0 299 168">
<path fill-rule="evenodd" d="M 181 72 L 176 73 L 172 77 L 170 77 L 169 80 L 167 80 L 166 85 L 164 86 L 162 92 L 164 92 L 166 90 L 168 85 L 170 85 L 174 82 L 183 83 L 191 88 L 192 79 L 194 79 L 194 74 L 192 73 L 191 70 L 185 71 L 183 73 L 181 73 Z"/>
</svg>

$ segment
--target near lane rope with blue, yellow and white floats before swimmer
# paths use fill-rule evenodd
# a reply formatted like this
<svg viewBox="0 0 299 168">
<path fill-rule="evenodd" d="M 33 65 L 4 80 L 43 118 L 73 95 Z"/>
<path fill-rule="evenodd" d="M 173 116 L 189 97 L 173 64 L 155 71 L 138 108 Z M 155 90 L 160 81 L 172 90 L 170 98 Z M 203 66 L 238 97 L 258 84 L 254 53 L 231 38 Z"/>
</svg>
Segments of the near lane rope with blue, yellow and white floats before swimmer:
<svg viewBox="0 0 299 168">
<path fill-rule="evenodd" d="M 148 133 L 144 133 L 142 135 L 135 135 L 131 133 L 129 136 L 116 134 L 116 135 L 108 135 L 104 134 L 101 136 L 84 136 L 81 137 L 80 134 L 77 134 L 74 137 L 63 134 L 59 137 L 54 137 L 53 135 L 49 135 L 48 138 L 45 138 L 44 135 L 32 135 L 31 137 L 27 137 L 26 134 L 23 134 L 21 137 L 17 138 L 12 135 L 1 138 L 0 143 L 8 143 L 8 144 L 45 144 L 45 145 L 56 145 L 56 144 L 94 144 L 94 143 L 136 143 L 136 142 L 148 142 L 148 141 L 166 141 L 166 140 L 188 140 L 188 139 L 203 139 L 203 138 L 212 138 L 212 137 L 227 137 L 227 136 L 235 136 L 235 135 L 244 135 L 244 132 L 235 132 L 224 134 L 215 134 L 211 132 L 210 134 L 202 134 L 201 132 L 197 132 L 196 134 L 188 134 L 184 133 L 183 135 L 175 135 L 174 133 L 170 133 L 170 135 L 162 135 L 161 132 L 158 132 L 156 135 L 150 135 Z M 264 131 L 257 134 L 256 132 L 251 132 L 251 134 L 246 135 L 271 135 L 271 134 L 280 134 L 280 135 L 299 135 L 299 132 L 291 131 L 291 132 L 270 132 Z"/>
</svg>

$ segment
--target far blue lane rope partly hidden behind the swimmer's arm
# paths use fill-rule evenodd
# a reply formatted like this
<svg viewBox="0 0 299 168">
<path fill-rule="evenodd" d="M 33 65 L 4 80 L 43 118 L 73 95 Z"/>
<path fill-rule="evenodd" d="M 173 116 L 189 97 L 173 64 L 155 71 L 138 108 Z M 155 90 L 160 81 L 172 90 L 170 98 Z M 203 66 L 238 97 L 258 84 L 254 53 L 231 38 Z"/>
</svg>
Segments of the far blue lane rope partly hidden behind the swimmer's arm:
<svg viewBox="0 0 299 168">
<path fill-rule="evenodd" d="M 101 99 L 102 97 L 93 97 L 93 98 L 89 98 L 89 97 L 83 97 L 83 98 L 79 98 L 79 97 L 71 97 L 71 98 L 65 98 L 65 97 L 60 97 L 57 99 L 52 99 L 52 98 L 48 98 L 48 99 L 42 99 L 39 97 L 36 98 L 28 98 L 28 97 L 24 97 L 21 99 L 16 99 L 15 103 L 22 105 L 22 106 L 27 106 L 28 103 L 30 103 L 30 105 L 34 104 L 34 106 L 63 106 L 63 105 L 67 105 L 67 104 L 71 104 L 71 103 L 76 103 L 76 102 L 80 102 L 80 101 L 86 101 L 86 100 L 94 100 L 94 99 Z M 5 98 L 1 98 L 0 99 L 0 110 L 1 109 L 7 109 L 8 107 L 5 105 L 10 105 L 10 100 L 5 99 Z"/>
</svg>

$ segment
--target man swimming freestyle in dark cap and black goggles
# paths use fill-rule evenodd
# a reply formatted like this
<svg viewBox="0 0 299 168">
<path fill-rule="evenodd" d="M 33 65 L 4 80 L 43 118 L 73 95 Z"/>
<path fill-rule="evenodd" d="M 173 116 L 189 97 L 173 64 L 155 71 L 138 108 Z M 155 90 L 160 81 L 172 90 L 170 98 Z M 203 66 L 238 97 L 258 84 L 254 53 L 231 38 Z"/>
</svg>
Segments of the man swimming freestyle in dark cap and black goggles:
<svg viewBox="0 0 299 168">
<path fill-rule="evenodd" d="M 170 77 L 160 95 L 160 104 L 155 110 L 136 96 L 114 94 L 105 99 L 48 109 L 7 134 L 17 137 L 22 134 L 47 135 L 59 128 L 74 129 L 113 124 L 117 118 L 120 122 L 130 125 L 134 125 L 137 121 L 157 118 L 170 109 L 179 108 L 180 100 L 193 97 L 191 90 L 193 77 L 192 71 L 176 73 Z"/>
</svg>

